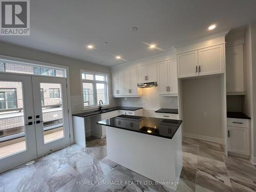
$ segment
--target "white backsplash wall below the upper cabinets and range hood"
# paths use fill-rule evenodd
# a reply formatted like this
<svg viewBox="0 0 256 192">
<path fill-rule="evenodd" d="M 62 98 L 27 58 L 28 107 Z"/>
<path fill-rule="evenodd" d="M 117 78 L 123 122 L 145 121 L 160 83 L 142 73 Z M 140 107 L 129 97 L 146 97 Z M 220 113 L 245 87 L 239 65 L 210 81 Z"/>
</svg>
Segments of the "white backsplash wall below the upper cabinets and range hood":
<svg viewBox="0 0 256 192">
<path fill-rule="evenodd" d="M 119 106 L 140 106 L 143 110 L 156 111 L 160 108 L 178 109 L 178 97 L 158 95 L 158 87 L 143 88 L 142 97 L 115 98 Z"/>
</svg>

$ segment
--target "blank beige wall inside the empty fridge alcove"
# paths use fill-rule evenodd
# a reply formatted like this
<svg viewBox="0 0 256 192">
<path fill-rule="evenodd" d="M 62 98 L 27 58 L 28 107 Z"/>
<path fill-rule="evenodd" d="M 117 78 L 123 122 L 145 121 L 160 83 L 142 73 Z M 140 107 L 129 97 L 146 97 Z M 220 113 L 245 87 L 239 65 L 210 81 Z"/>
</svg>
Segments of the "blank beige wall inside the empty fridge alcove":
<svg viewBox="0 0 256 192">
<path fill-rule="evenodd" d="M 221 77 L 182 80 L 184 133 L 222 138 Z"/>
</svg>

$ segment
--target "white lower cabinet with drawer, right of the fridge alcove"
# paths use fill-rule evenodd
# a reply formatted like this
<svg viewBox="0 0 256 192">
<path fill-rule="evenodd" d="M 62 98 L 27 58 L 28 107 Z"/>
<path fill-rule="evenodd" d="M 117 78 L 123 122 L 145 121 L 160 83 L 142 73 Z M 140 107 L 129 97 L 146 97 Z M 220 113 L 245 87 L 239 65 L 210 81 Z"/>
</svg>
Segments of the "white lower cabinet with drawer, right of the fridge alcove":
<svg viewBox="0 0 256 192">
<path fill-rule="evenodd" d="M 228 118 L 227 125 L 228 152 L 249 156 L 249 119 Z"/>
</svg>

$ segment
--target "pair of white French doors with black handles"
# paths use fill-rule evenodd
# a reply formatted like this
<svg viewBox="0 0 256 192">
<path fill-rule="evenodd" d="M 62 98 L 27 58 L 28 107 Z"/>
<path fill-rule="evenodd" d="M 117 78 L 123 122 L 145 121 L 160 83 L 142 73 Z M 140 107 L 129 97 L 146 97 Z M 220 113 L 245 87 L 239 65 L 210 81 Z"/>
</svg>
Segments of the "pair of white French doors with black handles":
<svg viewBox="0 0 256 192">
<path fill-rule="evenodd" d="M 0 73 L 0 172 L 70 143 L 66 84 Z"/>
</svg>

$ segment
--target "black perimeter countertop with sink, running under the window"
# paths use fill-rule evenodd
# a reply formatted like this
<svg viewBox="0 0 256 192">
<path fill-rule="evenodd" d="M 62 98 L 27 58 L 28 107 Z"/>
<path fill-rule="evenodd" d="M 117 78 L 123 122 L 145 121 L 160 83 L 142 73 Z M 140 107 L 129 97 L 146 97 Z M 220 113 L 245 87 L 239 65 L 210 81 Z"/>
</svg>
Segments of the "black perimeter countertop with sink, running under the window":
<svg viewBox="0 0 256 192">
<path fill-rule="evenodd" d="M 89 111 L 89 112 L 83 112 L 83 113 L 78 113 L 78 114 L 73 114 L 73 116 L 76 117 L 90 117 L 93 115 L 99 115 L 102 113 L 108 113 L 111 111 L 116 111 L 116 110 L 128 110 L 128 111 L 136 111 L 142 109 L 141 107 L 134 107 L 134 106 L 115 106 L 113 108 L 107 108 L 107 109 L 102 109 L 102 110 L 96 110 L 96 111 Z"/>
</svg>

